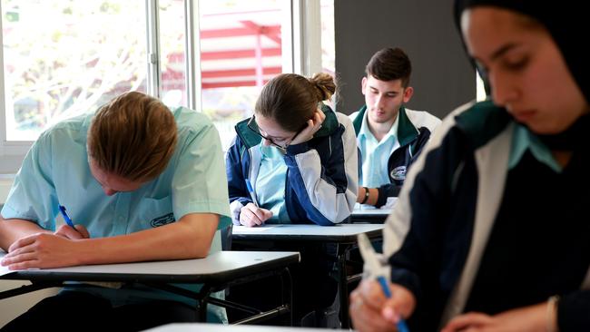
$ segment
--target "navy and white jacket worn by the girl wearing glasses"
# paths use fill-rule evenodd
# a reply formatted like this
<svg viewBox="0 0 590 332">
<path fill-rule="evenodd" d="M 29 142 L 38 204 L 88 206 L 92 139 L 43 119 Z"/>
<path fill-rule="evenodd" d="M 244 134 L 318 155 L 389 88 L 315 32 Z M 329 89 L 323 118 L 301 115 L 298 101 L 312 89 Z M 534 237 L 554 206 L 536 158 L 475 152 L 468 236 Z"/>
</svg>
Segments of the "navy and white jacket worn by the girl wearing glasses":
<svg viewBox="0 0 590 332">
<path fill-rule="evenodd" d="M 292 223 L 331 226 L 348 221 L 357 200 L 359 175 L 357 142 L 349 118 L 322 104 L 326 119 L 308 142 L 290 145 L 287 164 L 285 207 Z M 240 225 L 241 208 L 251 202 L 246 187 L 253 190 L 261 165 L 261 136 L 239 122 L 237 136 L 226 155 L 231 220 Z"/>
</svg>

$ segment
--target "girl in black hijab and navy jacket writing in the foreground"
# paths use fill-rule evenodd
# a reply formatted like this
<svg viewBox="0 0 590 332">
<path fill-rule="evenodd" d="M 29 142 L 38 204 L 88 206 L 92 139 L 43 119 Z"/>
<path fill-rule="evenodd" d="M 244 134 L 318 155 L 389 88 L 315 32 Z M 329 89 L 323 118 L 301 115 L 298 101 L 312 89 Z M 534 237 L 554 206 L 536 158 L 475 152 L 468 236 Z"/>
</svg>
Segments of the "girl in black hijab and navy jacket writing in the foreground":
<svg viewBox="0 0 590 332">
<path fill-rule="evenodd" d="M 438 127 L 384 229 L 392 297 L 359 331 L 590 330 L 590 76 L 583 3 L 457 1 L 491 99 Z"/>
</svg>

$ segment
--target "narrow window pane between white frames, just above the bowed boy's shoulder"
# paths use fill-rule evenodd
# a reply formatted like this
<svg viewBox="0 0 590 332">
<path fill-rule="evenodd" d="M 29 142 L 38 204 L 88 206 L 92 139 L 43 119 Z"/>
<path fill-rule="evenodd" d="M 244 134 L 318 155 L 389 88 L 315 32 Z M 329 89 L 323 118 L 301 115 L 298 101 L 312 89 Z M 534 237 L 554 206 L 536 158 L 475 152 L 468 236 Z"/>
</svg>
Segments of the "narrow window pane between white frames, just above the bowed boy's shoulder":
<svg viewBox="0 0 590 332">
<path fill-rule="evenodd" d="M 170 106 L 187 106 L 184 44 L 184 0 L 160 0 L 160 49 L 162 101 Z"/>
</svg>

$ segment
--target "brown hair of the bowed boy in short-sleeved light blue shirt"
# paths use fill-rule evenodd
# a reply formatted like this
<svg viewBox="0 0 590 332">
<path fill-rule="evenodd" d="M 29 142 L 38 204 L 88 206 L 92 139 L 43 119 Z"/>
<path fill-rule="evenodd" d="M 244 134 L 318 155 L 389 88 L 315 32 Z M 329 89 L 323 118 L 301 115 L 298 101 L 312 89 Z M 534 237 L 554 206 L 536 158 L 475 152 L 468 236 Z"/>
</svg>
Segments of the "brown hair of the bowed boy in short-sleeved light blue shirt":
<svg viewBox="0 0 590 332">
<path fill-rule="evenodd" d="M 123 93 L 94 115 L 88 156 L 104 172 L 146 182 L 164 171 L 177 141 L 174 116 L 162 102 Z"/>
</svg>

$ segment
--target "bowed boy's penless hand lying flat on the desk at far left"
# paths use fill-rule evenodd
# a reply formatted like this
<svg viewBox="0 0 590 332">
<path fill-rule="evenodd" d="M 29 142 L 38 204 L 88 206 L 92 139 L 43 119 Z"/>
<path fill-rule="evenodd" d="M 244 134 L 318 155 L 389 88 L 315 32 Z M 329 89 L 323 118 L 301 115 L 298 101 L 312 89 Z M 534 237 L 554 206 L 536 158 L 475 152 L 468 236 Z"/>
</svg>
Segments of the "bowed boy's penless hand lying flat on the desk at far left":
<svg viewBox="0 0 590 332">
<path fill-rule="evenodd" d="M 17 239 L 2 259 L 8 269 L 53 269 L 78 265 L 76 255 L 84 255 L 75 240 L 62 236 L 36 233 Z"/>
</svg>

